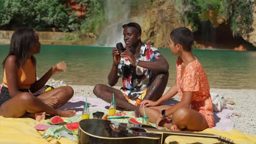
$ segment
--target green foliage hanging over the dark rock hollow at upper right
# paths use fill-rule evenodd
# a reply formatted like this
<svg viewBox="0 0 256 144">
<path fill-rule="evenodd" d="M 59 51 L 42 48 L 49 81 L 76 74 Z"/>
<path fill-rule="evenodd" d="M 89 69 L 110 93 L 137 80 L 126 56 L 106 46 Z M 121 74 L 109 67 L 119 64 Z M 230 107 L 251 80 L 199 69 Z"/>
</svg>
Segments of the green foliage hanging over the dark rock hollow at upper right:
<svg viewBox="0 0 256 144">
<path fill-rule="evenodd" d="M 233 35 L 242 35 L 251 31 L 253 22 L 253 2 L 250 0 L 181 0 L 176 5 L 184 5 L 182 20 L 191 23 L 193 31 L 201 21 L 210 21 L 214 27 L 218 19 L 225 17 Z"/>
</svg>

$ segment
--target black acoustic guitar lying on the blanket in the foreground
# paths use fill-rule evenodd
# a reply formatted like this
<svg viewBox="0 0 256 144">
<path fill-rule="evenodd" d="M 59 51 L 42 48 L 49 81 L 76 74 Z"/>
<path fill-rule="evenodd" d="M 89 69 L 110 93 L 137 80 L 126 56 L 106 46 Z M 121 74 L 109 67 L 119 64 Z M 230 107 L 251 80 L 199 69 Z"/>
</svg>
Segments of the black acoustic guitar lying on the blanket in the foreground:
<svg viewBox="0 0 256 144">
<path fill-rule="evenodd" d="M 211 137 L 223 143 L 232 143 L 213 134 L 192 133 L 189 131 L 158 130 L 148 125 L 127 124 L 103 119 L 84 119 L 79 122 L 78 143 L 164 143 L 167 136 L 199 136 Z"/>
</svg>

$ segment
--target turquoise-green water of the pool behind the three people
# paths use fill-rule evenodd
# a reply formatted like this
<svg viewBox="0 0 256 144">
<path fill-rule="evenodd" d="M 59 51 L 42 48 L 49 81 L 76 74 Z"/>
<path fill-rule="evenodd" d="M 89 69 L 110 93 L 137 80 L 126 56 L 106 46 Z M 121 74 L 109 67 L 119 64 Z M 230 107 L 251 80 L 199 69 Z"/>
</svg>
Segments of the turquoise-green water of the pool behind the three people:
<svg viewBox="0 0 256 144">
<path fill-rule="evenodd" d="M 0 45 L 0 61 L 7 56 L 8 45 Z M 43 45 L 37 58 L 37 76 L 41 77 L 52 65 L 65 61 L 67 71 L 52 78 L 69 85 L 107 84 L 112 67 L 112 47 Z M 172 86 L 176 77 L 175 61 L 168 49 L 160 49 L 167 59 L 170 77 L 167 86 Z M 194 50 L 208 76 L 211 88 L 256 89 L 256 52 L 228 50 Z M 2 82 L 3 68 L 0 68 Z M 119 79 L 118 85 L 121 85 Z"/>
</svg>

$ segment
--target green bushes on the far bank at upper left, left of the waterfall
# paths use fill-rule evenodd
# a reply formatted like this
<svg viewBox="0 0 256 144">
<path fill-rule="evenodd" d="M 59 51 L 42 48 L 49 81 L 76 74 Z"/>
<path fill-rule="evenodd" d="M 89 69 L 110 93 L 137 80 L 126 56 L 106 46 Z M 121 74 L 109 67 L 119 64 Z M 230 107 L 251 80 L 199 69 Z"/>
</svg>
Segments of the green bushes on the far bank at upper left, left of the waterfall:
<svg viewBox="0 0 256 144">
<path fill-rule="evenodd" d="M 37 31 L 55 28 L 73 31 L 79 27 L 78 16 L 65 8 L 61 0 L 2 0 L 0 26 L 32 27 Z M 66 1 L 67 2 L 67 1 Z"/>
</svg>

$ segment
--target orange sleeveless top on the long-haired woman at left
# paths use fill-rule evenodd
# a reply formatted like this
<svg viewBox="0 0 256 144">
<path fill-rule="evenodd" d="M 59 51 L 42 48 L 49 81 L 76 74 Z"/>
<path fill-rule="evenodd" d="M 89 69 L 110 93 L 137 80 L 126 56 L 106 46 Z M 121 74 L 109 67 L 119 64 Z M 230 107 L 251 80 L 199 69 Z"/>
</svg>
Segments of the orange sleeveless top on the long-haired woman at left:
<svg viewBox="0 0 256 144">
<path fill-rule="evenodd" d="M 36 81 L 36 66 L 33 65 L 31 59 L 27 59 L 24 68 L 18 69 L 18 88 L 30 89 L 30 85 Z M 3 86 L 8 87 L 5 69 L 3 77 Z"/>
</svg>

